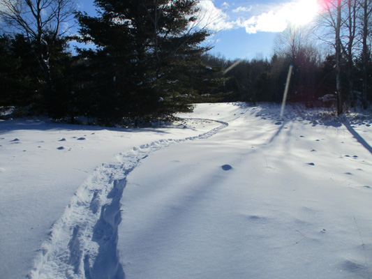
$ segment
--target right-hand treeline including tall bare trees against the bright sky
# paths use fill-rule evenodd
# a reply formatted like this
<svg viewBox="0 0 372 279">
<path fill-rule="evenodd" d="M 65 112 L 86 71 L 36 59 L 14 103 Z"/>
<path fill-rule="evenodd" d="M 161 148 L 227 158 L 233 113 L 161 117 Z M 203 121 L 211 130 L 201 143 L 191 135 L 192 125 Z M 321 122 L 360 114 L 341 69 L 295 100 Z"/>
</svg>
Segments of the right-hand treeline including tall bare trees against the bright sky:
<svg viewBox="0 0 372 279">
<path fill-rule="evenodd" d="M 278 33 L 274 55 L 269 58 L 229 61 L 223 56 L 204 56 L 205 63 L 225 69 L 221 77 L 228 80 L 221 90 L 232 93 L 228 100 L 281 102 L 292 65 L 288 101 L 312 107 L 334 106 L 338 114 L 349 107 L 369 107 L 372 102 L 372 56 L 371 44 L 365 41 L 372 39 L 372 33 L 364 33 L 364 24 L 370 30 L 372 22 L 359 21 L 358 25 L 357 18 L 364 19 L 366 7 L 369 7 L 369 16 L 372 15 L 372 2 L 339 3 L 343 5 L 339 14 L 342 24 L 337 36 L 336 29 L 327 25 L 333 22 L 334 13 L 337 13 L 336 3 L 332 6 L 329 2 L 327 16 L 320 15 L 311 27 L 288 25 L 285 31 Z M 366 3 L 368 6 L 357 8 L 357 4 Z M 355 8 L 355 14 L 351 8 Z M 355 18 L 352 32 L 347 24 L 350 18 Z"/>
</svg>

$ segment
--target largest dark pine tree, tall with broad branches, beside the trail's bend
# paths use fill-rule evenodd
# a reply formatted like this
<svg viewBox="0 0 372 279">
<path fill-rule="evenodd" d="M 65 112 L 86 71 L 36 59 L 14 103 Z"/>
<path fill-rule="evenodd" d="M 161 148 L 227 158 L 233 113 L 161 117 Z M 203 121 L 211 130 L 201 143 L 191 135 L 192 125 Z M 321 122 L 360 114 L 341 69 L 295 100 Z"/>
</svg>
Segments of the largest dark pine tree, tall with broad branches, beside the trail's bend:
<svg viewBox="0 0 372 279">
<path fill-rule="evenodd" d="M 207 73 L 200 57 L 209 50 L 200 47 L 209 31 L 191 28 L 197 2 L 96 0 L 98 17 L 77 14 L 80 41 L 96 45 L 80 50 L 89 71 L 80 95 L 89 95 L 91 115 L 110 123 L 192 109 L 195 72 Z"/>
</svg>

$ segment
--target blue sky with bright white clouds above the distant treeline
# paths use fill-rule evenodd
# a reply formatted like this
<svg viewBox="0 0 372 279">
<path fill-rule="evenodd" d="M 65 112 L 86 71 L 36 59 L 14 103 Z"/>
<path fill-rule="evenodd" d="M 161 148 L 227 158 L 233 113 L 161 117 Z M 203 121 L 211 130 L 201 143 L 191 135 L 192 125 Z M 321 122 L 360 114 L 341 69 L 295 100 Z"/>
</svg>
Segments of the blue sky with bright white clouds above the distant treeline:
<svg viewBox="0 0 372 279">
<path fill-rule="evenodd" d="M 77 0 L 91 14 L 92 0 Z M 317 0 L 200 0 L 203 26 L 215 32 L 209 38 L 211 54 L 227 59 L 270 58 L 276 35 L 288 22 L 305 24 L 316 13 Z M 205 20 L 208 19 L 208 20 Z"/>
</svg>

